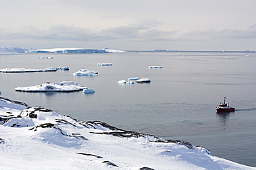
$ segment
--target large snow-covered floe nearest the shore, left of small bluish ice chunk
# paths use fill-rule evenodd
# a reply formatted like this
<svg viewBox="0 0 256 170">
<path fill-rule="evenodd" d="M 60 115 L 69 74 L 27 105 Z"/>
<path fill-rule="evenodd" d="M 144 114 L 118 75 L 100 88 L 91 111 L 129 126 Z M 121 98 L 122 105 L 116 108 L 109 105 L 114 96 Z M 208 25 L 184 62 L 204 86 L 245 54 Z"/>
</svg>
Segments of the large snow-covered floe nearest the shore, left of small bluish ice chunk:
<svg viewBox="0 0 256 170">
<path fill-rule="evenodd" d="M 42 85 L 35 85 L 29 87 L 17 87 L 17 92 L 75 92 L 86 89 L 82 85 L 73 81 L 62 81 L 60 83 L 43 83 Z"/>
</svg>

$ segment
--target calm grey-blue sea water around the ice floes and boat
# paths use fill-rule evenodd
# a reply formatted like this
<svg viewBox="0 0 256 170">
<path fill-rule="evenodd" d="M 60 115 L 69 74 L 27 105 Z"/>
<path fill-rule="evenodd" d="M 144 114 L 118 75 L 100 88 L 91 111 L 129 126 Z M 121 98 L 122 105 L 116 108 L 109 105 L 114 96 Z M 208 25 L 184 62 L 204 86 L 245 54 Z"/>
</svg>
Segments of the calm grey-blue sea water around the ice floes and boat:
<svg viewBox="0 0 256 170">
<path fill-rule="evenodd" d="M 47 107 L 78 120 L 100 120 L 121 129 L 186 140 L 210 149 L 214 156 L 256 167 L 256 54 L 127 52 L 0 58 L 0 68 L 70 67 L 69 71 L 0 73 L 3 97 Z M 163 69 L 147 69 L 149 65 L 161 65 Z M 72 75 L 82 67 L 99 74 Z M 131 76 L 152 82 L 117 83 Z M 95 94 L 15 92 L 15 87 L 47 81 L 74 81 L 95 89 Z M 235 113 L 216 113 L 215 107 L 224 96 L 237 109 Z"/>
</svg>

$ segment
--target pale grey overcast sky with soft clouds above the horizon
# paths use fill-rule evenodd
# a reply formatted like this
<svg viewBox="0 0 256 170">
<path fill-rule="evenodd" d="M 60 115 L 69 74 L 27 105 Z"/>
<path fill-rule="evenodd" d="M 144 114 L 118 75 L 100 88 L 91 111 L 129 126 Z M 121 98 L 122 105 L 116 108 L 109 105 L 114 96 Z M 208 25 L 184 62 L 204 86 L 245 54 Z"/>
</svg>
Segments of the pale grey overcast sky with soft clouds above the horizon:
<svg viewBox="0 0 256 170">
<path fill-rule="evenodd" d="M 0 46 L 256 50 L 255 0 L 0 0 Z"/>
</svg>

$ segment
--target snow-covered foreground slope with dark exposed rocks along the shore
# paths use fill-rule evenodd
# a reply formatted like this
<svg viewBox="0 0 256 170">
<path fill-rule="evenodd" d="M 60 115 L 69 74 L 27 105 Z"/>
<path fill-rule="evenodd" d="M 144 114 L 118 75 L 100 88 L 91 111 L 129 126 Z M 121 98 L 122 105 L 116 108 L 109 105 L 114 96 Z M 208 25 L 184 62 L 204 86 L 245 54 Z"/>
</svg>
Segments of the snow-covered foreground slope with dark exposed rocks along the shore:
<svg viewBox="0 0 256 170">
<path fill-rule="evenodd" d="M 0 169 L 255 169 L 182 140 L 0 98 Z"/>
</svg>

